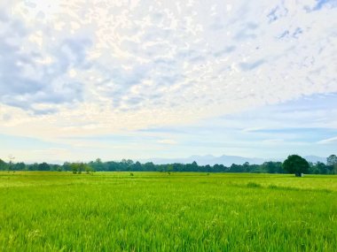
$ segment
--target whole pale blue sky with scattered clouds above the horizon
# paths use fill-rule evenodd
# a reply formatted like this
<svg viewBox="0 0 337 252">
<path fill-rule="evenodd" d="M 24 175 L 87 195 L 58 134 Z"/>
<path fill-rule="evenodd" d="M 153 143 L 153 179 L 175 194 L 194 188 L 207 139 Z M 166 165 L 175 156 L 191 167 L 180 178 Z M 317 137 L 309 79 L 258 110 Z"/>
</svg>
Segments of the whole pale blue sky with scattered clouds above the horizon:
<svg viewBox="0 0 337 252">
<path fill-rule="evenodd" d="M 0 158 L 337 154 L 337 0 L 0 1 Z"/>
</svg>

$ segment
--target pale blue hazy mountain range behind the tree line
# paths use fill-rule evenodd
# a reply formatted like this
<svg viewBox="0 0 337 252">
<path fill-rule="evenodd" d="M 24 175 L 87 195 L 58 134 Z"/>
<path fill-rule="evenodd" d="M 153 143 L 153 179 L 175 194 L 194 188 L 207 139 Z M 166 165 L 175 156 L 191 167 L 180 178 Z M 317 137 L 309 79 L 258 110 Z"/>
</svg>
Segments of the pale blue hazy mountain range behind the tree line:
<svg viewBox="0 0 337 252">
<path fill-rule="evenodd" d="M 326 162 L 325 157 L 317 156 L 306 156 L 304 157 L 308 162 L 317 163 L 317 162 Z M 214 164 L 223 164 L 225 166 L 231 166 L 231 164 L 263 164 L 264 162 L 274 161 L 274 162 L 283 162 L 286 158 L 259 158 L 259 157 L 239 157 L 239 156 L 220 156 L 215 157 L 212 155 L 206 156 L 191 156 L 184 158 L 152 158 L 139 160 L 141 163 L 153 162 L 153 164 L 191 164 L 193 161 L 197 162 L 200 165 L 214 165 Z"/>
</svg>

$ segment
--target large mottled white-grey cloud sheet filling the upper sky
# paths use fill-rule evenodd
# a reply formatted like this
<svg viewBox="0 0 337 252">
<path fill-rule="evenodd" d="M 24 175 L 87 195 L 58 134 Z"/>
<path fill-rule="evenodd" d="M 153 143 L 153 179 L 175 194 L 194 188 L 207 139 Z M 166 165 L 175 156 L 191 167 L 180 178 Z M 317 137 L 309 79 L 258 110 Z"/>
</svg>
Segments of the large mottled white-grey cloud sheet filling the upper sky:
<svg viewBox="0 0 337 252">
<path fill-rule="evenodd" d="M 3 132 L 108 134 L 337 92 L 333 1 L 0 7 Z"/>
</svg>

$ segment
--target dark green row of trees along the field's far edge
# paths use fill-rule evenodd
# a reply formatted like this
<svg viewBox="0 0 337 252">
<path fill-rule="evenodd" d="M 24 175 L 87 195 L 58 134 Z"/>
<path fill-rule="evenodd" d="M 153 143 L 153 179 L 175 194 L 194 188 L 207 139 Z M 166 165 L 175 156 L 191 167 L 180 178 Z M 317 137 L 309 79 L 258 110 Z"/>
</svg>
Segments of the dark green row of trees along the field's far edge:
<svg viewBox="0 0 337 252">
<path fill-rule="evenodd" d="M 309 174 L 337 174 L 337 157 L 327 157 L 326 164 L 317 162 L 308 163 L 304 158 L 292 155 L 285 162 L 265 162 L 263 164 L 223 164 L 199 165 L 192 164 L 153 164 L 148 162 L 140 164 L 130 159 L 122 159 L 121 162 L 102 162 L 100 158 L 89 163 L 65 163 L 65 164 L 25 164 L 13 163 L 10 160 L 5 163 L 0 159 L 0 171 L 64 171 L 73 173 L 97 172 L 255 172 L 255 173 L 301 173 Z"/>
</svg>

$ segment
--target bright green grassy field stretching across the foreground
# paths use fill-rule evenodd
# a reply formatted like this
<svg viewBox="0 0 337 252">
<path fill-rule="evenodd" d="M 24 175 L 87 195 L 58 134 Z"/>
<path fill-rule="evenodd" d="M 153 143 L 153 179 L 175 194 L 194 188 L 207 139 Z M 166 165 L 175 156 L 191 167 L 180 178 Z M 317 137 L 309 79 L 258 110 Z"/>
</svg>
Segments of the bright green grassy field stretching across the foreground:
<svg viewBox="0 0 337 252">
<path fill-rule="evenodd" d="M 1 251 L 337 251 L 337 176 L 0 172 Z"/>
</svg>

